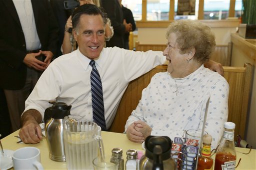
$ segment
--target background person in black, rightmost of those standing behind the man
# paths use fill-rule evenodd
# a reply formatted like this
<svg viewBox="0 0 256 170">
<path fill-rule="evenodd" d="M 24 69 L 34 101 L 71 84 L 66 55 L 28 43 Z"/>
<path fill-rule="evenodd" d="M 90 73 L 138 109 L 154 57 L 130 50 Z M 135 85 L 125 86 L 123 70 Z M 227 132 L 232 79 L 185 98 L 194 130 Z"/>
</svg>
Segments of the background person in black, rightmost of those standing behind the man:
<svg viewBox="0 0 256 170">
<path fill-rule="evenodd" d="M 124 7 L 121 4 L 122 0 L 119 0 L 119 3 L 121 5 L 122 8 L 122 13 L 123 13 L 123 23 L 130 23 L 131 24 L 131 28 L 129 30 L 129 32 L 134 31 L 136 29 L 136 24 L 132 15 L 132 12 L 130 9 Z M 125 49 L 129 49 L 129 32 L 125 32 L 124 33 L 124 48 Z"/>
</svg>

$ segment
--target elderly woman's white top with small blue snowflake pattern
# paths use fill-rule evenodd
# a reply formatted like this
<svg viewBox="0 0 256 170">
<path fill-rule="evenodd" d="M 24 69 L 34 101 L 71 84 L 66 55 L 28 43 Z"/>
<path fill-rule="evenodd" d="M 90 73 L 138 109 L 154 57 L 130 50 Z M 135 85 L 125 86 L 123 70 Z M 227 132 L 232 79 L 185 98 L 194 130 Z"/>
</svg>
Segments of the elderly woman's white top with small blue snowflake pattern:
<svg viewBox="0 0 256 170">
<path fill-rule="evenodd" d="M 211 146 L 215 148 L 227 121 L 228 92 L 226 80 L 203 65 L 181 79 L 172 78 L 168 72 L 157 73 L 142 91 L 125 131 L 134 121 L 142 120 L 152 128 L 151 135 L 168 136 L 171 140 L 182 137 L 184 130 L 202 128 L 210 96 L 205 131 L 212 136 Z"/>
</svg>

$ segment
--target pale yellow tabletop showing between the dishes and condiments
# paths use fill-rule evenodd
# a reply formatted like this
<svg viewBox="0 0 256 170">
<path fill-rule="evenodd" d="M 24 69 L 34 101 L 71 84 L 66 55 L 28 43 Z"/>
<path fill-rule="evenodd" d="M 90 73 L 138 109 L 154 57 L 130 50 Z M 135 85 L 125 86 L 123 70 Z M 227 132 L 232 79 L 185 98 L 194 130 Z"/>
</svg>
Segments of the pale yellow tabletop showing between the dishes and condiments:
<svg viewBox="0 0 256 170">
<path fill-rule="evenodd" d="M 49 151 L 46 138 L 43 138 L 40 143 L 37 144 L 16 143 L 17 138 L 15 138 L 14 136 L 17 136 L 18 132 L 19 130 L 1 139 L 2 147 L 4 150 L 15 151 L 22 147 L 35 147 L 40 150 L 41 164 L 44 170 L 66 170 L 65 162 L 55 162 L 49 159 Z M 126 137 L 126 134 L 102 131 L 101 137 L 103 140 L 105 155 L 111 155 L 111 151 L 113 148 L 121 148 L 123 151 L 122 157 L 124 159 L 124 163 L 126 161 L 127 150 L 135 149 L 137 151 L 144 152 L 141 143 L 133 143 L 129 141 Z M 240 160 L 238 166 L 236 167 L 236 170 L 256 170 L 256 150 L 236 147 L 235 151 L 236 165 Z M 212 156 L 212 159 L 214 161 L 215 154 Z M 10 170 L 13 170 L 13 168 L 10 168 Z"/>
</svg>

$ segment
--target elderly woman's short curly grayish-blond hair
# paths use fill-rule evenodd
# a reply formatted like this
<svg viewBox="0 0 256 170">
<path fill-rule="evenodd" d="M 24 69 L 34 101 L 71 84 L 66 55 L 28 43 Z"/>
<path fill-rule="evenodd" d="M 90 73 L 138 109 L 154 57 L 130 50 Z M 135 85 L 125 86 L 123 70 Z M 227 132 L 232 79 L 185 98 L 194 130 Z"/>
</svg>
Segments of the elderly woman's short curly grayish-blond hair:
<svg viewBox="0 0 256 170">
<path fill-rule="evenodd" d="M 209 60 L 215 48 L 215 36 L 210 27 L 196 20 L 175 20 L 167 27 L 166 38 L 176 34 L 176 44 L 184 54 L 195 48 L 194 58 L 201 63 Z"/>
</svg>

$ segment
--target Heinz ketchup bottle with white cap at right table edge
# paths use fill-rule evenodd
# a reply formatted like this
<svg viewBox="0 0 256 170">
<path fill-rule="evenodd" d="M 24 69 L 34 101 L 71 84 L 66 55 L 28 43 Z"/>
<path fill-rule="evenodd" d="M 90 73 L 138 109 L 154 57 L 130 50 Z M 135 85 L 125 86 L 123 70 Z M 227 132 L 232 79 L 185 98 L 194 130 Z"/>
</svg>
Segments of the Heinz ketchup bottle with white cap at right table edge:
<svg viewBox="0 0 256 170">
<path fill-rule="evenodd" d="M 235 124 L 232 122 L 224 123 L 223 137 L 216 151 L 214 170 L 235 169 L 234 127 Z"/>
</svg>

